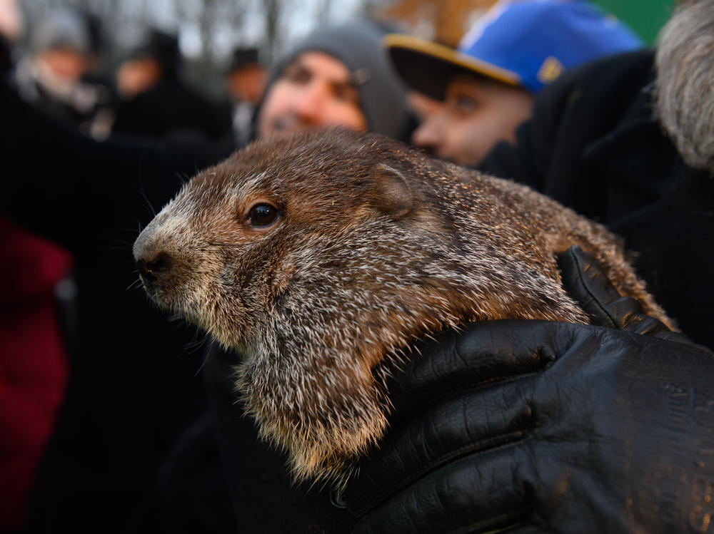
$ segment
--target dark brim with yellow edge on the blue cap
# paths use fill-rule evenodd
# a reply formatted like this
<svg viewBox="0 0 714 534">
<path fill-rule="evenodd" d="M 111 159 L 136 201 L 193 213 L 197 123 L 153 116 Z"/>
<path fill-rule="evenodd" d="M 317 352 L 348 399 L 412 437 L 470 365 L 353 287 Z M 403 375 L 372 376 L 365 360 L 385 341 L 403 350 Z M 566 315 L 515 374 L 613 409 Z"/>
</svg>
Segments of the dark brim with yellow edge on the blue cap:
<svg viewBox="0 0 714 534">
<path fill-rule="evenodd" d="M 459 71 L 476 73 L 511 86 L 521 85 L 521 76 L 517 73 L 438 43 L 409 35 L 388 34 L 383 38 L 383 45 L 407 86 L 436 100 L 443 101 L 446 85 Z"/>
</svg>

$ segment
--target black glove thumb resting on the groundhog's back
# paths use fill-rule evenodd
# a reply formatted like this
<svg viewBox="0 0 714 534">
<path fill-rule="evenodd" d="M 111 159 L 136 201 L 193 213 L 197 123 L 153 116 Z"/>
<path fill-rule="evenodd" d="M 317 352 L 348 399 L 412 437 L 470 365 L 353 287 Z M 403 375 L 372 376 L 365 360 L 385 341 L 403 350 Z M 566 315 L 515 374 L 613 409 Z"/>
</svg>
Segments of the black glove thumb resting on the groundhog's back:
<svg viewBox="0 0 714 534">
<path fill-rule="evenodd" d="M 600 268 L 595 257 L 573 246 L 558 257 L 563 287 L 580 304 L 593 324 L 628 330 L 633 334 L 670 333 L 654 317 L 643 314 L 640 302 L 623 297 Z"/>
</svg>

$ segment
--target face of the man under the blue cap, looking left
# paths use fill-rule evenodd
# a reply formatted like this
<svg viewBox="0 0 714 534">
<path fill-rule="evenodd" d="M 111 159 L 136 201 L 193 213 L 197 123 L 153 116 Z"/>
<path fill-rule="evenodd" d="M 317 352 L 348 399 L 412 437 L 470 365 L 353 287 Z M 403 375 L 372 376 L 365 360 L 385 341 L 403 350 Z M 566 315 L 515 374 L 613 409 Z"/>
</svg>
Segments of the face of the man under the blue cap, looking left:
<svg viewBox="0 0 714 534">
<path fill-rule="evenodd" d="M 514 141 L 531 116 L 533 96 L 518 87 L 458 74 L 446 87 L 441 111 L 414 131 L 415 145 L 459 165 L 478 165 L 498 141 Z"/>
</svg>

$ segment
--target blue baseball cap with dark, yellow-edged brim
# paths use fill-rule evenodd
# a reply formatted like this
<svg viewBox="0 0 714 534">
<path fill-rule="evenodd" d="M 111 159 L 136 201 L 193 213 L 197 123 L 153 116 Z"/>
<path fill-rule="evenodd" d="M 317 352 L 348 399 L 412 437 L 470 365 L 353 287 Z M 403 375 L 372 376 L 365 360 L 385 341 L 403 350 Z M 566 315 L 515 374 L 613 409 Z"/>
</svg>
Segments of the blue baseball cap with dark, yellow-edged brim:
<svg viewBox="0 0 714 534">
<path fill-rule="evenodd" d="M 622 21 L 587 0 L 498 1 L 456 50 L 402 34 L 387 35 L 384 44 L 407 85 L 437 100 L 458 72 L 538 93 L 568 68 L 643 46 Z"/>
</svg>

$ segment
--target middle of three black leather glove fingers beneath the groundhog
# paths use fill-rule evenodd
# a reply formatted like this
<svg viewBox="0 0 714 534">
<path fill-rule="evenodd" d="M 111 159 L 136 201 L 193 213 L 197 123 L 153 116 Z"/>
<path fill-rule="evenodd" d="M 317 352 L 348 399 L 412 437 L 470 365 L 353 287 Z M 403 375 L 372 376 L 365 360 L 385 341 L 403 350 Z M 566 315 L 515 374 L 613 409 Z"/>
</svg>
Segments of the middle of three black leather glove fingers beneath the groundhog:
<svg viewBox="0 0 714 534">
<path fill-rule="evenodd" d="M 361 461 L 348 488 L 351 508 L 374 508 L 457 458 L 523 439 L 535 425 L 530 389 L 530 379 L 487 386 L 475 398 L 461 393 L 395 424 L 380 451 Z"/>
</svg>

